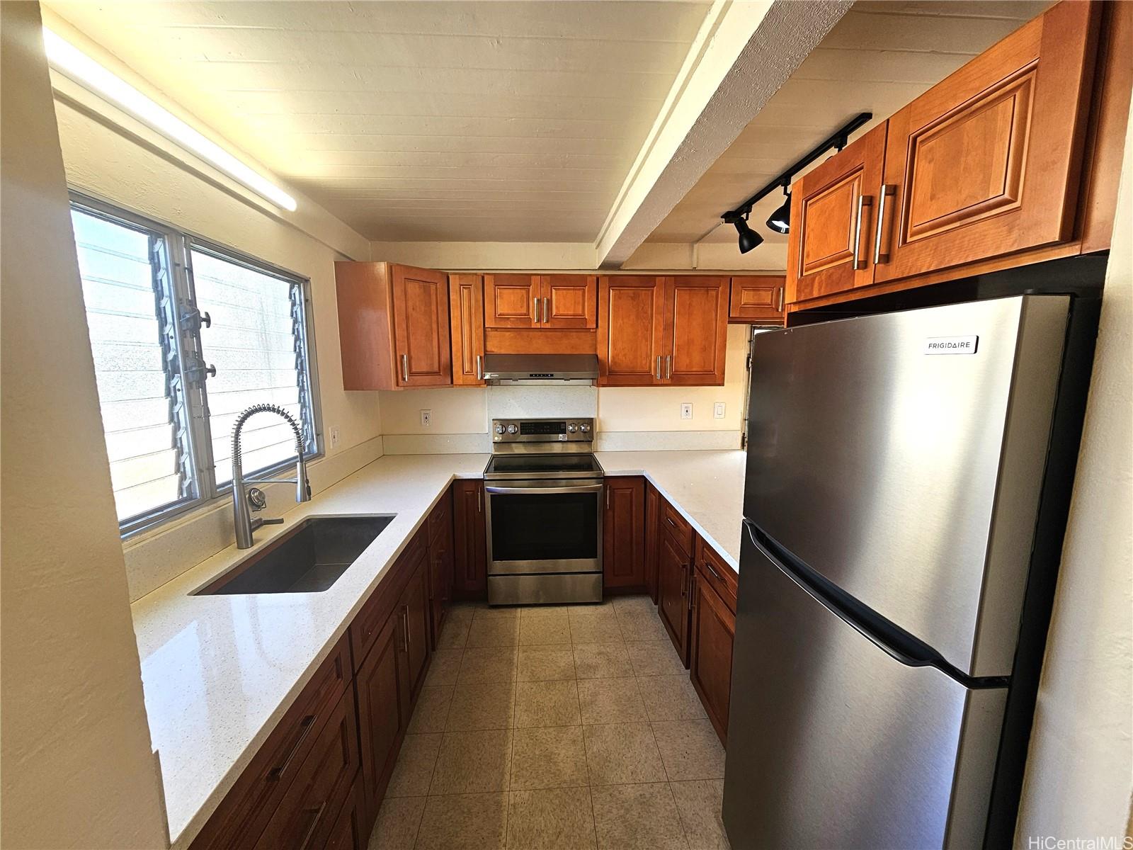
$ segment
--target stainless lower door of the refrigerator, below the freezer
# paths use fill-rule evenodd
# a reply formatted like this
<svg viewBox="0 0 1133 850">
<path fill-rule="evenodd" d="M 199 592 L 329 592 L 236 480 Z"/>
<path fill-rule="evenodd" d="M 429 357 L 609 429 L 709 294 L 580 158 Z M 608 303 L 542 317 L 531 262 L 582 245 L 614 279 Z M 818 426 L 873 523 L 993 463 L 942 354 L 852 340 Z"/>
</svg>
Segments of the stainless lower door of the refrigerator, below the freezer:
<svg viewBox="0 0 1133 850">
<path fill-rule="evenodd" d="M 977 848 L 1006 688 L 908 666 L 744 537 L 724 825 L 746 848 Z"/>
</svg>

